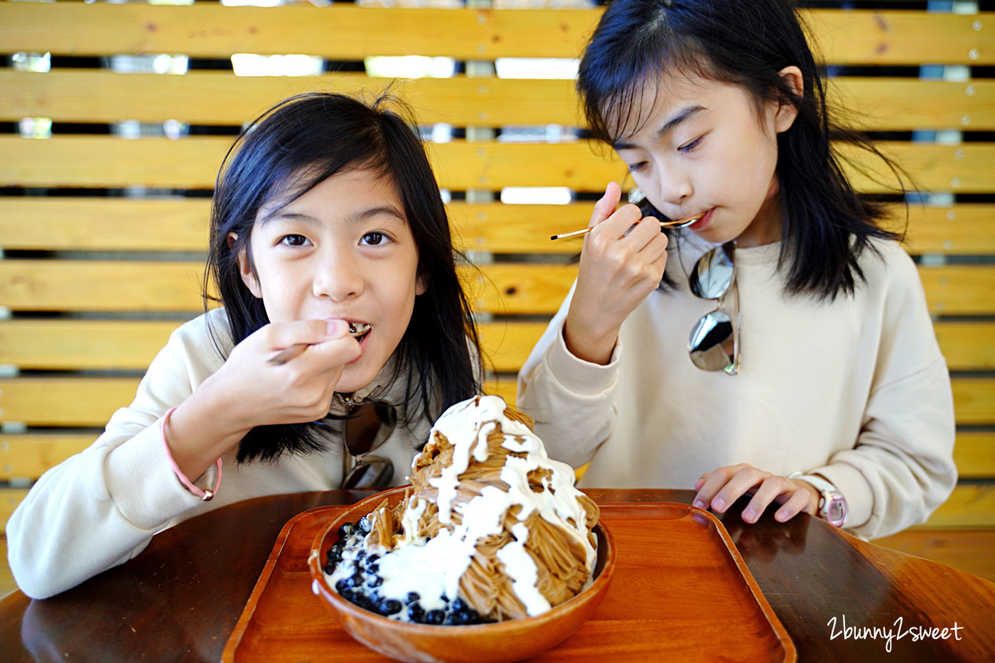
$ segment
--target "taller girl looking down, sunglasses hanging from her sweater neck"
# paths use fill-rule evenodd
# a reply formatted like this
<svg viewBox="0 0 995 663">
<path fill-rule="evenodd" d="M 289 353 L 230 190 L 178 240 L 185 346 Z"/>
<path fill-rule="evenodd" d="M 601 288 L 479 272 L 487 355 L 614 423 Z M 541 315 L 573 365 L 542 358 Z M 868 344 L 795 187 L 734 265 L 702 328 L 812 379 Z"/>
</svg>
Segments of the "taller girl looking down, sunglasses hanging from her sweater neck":
<svg viewBox="0 0 995 663">
<path fill-rule="evenodd" d="M 519 373 L 550 455 L 590 463 L 582 486 L 694 486 L 716 512 L 749 495 L 747 523 L 771 504 L 864 537 L 925 521 L 956 482 L 946 364 L 834 141 L 877 152 L 831 121 L 790 3 L 615 0 L 577 88 L 645 200 L 608 185 Z"/>
</svg>

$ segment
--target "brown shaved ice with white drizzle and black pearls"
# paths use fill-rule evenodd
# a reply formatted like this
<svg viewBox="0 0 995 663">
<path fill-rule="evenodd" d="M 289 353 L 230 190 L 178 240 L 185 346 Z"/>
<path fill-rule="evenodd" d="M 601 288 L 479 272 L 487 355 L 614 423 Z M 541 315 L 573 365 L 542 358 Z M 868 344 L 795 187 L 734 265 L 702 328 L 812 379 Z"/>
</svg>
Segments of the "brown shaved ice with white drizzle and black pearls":
<svg viewBox="0 0 995 663">
<path fill-rule="evenodd" d="M 328 585 L 391 619 L 474 624 L 542 614 L 591 582 L 598 507 L 499 396 L 449 408 L 410 493 L 339 529 Z"/>
</svg>

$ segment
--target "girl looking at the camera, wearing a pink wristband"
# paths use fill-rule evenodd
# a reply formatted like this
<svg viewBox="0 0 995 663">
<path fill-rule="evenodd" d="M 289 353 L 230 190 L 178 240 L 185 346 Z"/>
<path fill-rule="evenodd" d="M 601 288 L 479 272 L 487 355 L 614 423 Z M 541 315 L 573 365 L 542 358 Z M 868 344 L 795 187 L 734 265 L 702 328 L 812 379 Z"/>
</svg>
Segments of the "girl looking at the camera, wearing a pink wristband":
<svg viewBox="0 0 995 663">
<path fill-rule="evenodd" d="M 398 111 L 307 94 L 238 138 L 205 279 L 223 308 L 174 331 L 131 405 L 18 507 L 25 593 L 67 589 L 207 509 L 403 484 L 435 418 L 479 392 L 446 210 Z"/>
</svg>

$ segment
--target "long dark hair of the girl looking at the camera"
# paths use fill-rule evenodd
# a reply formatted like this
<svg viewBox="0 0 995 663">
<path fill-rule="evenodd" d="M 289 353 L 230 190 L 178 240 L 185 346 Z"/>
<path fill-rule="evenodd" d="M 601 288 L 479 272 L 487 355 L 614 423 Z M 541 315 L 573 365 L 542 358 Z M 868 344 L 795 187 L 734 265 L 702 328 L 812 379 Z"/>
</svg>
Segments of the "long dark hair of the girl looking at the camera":
<svg viewBox="0 0 995 663">
<path fill-rule="evenodd" d="M 270 321 L 263 301 L 239 276 L 256 217 L 274 200 L 287 204 L 335 173 L 369 169 L 397 189 L 418 249 L 418 278 L 407 331 L 394 351 L 397 379 L 407 374 L 399 419 L 434 419 L 478 393 L 477 329 L 456 271 L 449 219 L 413 113 L 393 97 L 371 102 L 333 93 L 287 99 L 252 121 L 236 139 L 218 174 L 211 208 L 211 245 L 205 297 L 225 306 L 232 340 L 240 342 Z M 229 246 L 229 233 L 238 239 Z M 255 269 L 255 268 L 253 268 Z M 213 285 L 218 298 L 206 293 Z M 257 426 L 239 444 L 238 460 L 275 460 L 285 452 L 326 447 L 319 423 Z"/>
</svg>

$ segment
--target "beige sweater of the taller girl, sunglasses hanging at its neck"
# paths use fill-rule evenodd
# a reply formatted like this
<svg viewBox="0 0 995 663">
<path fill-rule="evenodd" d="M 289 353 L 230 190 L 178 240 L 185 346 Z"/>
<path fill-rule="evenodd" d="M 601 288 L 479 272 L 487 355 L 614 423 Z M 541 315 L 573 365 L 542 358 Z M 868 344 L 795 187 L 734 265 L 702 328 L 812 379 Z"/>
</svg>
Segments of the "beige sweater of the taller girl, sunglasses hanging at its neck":
<svg viewBox="0 0 995 663">
<path fill-rule="evenodd" d="M 833 302 L 784 294 L 779 244 L 737 249 L 737 375 L 699 370 L 688 336 L 715 303 L 688 291 L 702 251 L 678 241 L 656 291 L 622 327 L 610 363 L 570 354 L 571 290 L 518 375 L 518 405 L 581 486 L 693 487 L 750 463 L 818 472 L 847 499 L 865 538 L 922 523 L 953 490 L 953 400 L 915 266 L 894 242 L 861 258 L 868 284 Z"/>
</svg>

